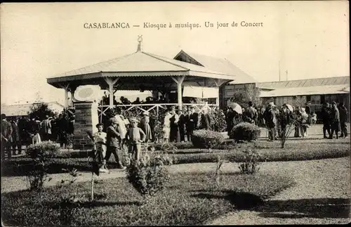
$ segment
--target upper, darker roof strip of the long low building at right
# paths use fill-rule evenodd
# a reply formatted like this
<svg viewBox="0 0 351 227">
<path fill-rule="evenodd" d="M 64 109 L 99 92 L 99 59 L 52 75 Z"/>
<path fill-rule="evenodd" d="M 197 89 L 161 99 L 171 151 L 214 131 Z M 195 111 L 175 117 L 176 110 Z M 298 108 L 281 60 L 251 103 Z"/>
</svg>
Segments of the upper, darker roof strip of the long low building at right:
<svg viewBox="0 0 351 227">
<path fill-rule="evenodd" d="M 307 86 L 326 86 L 350 84 L 350 77 L 326 77 L 315 79 L 298 79 L 285 82 L 261 82 L 256 83 L 256 87 L 260 89 L 283 89 L 292 87 L 307 87 Z"/>
</svg>

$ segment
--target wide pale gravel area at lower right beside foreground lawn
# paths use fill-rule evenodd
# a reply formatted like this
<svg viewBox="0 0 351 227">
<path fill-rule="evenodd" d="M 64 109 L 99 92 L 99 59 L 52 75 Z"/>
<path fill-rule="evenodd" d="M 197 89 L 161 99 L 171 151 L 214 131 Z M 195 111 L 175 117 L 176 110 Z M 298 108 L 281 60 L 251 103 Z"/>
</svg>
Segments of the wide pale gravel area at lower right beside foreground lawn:
<svg viewBox="0 0 351 227">
<path fill-rule="evenodd" d="M 302 162 L 270 162 L 260 171 L 292 175 L 296 186 L 253 211 L 231 212 L 208 225 L 349 223 L 350 157 Z"/>
</svg>

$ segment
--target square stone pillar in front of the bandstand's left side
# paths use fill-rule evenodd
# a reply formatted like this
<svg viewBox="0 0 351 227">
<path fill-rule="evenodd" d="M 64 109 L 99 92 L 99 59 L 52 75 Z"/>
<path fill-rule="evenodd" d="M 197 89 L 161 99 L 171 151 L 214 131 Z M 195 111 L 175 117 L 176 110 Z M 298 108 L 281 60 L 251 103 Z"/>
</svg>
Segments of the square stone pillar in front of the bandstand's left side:
<svg viewBox="0 0 351 227">
<path fill-rule="evenodd" d="M 74 150 L 91 150 L 93 143 L 88 138 L 86 131 L 94 133 L 98 124 L 98 104 L 93 102 L 74 102 Z"/>
</svg>

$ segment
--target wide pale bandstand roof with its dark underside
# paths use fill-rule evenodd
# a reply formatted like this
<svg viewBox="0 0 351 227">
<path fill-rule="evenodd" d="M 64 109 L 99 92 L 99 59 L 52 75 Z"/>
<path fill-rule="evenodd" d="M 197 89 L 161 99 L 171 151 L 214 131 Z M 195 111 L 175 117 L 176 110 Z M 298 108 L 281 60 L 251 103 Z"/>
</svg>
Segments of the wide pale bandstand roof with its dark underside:
<svg viewBox="0 0 351 227">
<path fill-rule="evenodd" d="M 138 90 L 143 84 L 145 90 L 161 86 L 161 84 L 174 84 L 173 76 L 185 76 L 183 84 L 213 86 L 214 80 L 204 78 L 222 79 L 226 82 L 237 78 L 230 72 L 220 72 L 208 67 L 185 63 L 180 60 L 157 56 L 152 53 L 138 50 L 127 56 L 114 58 L 102 63 L 82 67 L 47 78 L 48 84 L 60 88 L 62 84 L 100 84 L 106 86 L 105 77 L 119 77 L 117 89 Z M 150 77 L 154 77 L 150 80 Z M 200 78 L 202 77 L 202 79 Z M 170 86 L 168 86 L 170 87 Z"/>
</svg>

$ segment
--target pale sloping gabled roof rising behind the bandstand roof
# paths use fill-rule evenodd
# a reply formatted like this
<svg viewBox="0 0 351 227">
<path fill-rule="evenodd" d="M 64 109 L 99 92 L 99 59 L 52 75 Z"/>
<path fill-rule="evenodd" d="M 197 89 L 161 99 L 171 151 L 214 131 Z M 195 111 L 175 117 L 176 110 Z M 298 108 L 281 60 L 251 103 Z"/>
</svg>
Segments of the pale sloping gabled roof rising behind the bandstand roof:
<svg viewBox="0 0 351 227">
<path fill-rule="evenodd" d="M 222 72 L 224 74 L 231 74 L 234 75 L 235 78 L 233 79 L 230 84 L 248 84 L 248 83 L 256 83 L 256 80 L 253 79 L 249 74 L 246 74 L 243 70 L 241 70 L 236 65 L 233 65 L 229 60 L 226 58 L 215 58 L 212 56 L 204 56 L 198 53 L 190 53 L 181 50 L 174 59 L 180 56 L 187 56 L 188 58 L 192 59 L 194 63 L 197 63 L 203 67 L 206 67 L 211 70 L 215 70 L 217 72 Z M 192 64 L 194 65 L 194 64 Z"/>
</svg>

